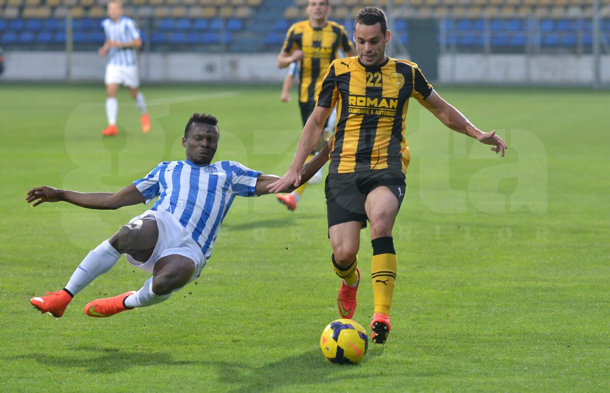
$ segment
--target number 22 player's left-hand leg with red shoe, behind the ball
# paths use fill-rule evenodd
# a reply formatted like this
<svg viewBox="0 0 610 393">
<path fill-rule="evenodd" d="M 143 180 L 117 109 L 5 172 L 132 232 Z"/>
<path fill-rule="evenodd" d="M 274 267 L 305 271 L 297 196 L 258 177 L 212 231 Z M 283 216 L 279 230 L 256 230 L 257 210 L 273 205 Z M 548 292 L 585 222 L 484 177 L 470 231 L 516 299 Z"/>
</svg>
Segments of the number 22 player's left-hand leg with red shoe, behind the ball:
<svg viewBox="0 0 610 393">
<path fill-rule="evenodd" d="M 360 221 L 342 222 L 328 228 L 332 246 L 332 267 L 341 280 L 337 308 L 341 318 L 351 319 L 356 311 L 360 283 L 356 253 L 360 247 Z"/>
</svg>

